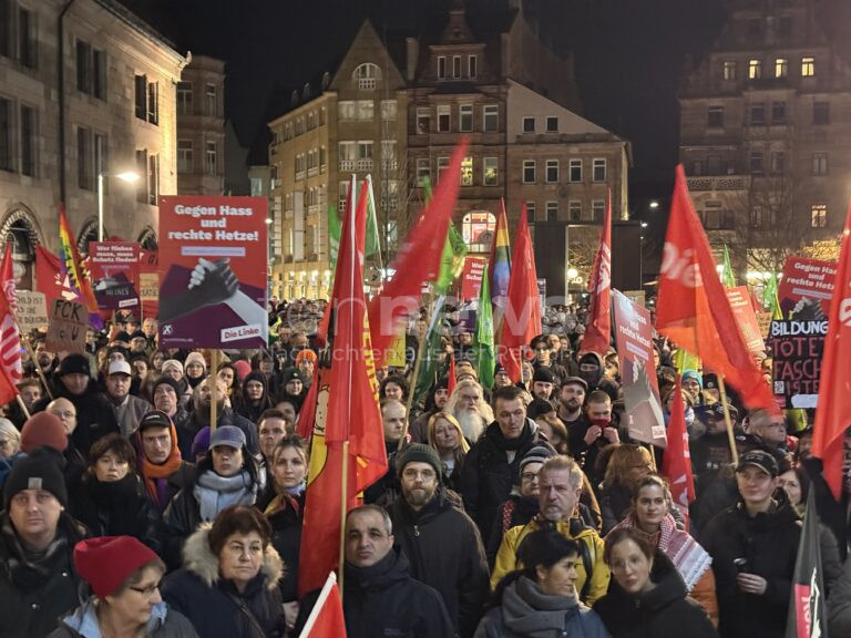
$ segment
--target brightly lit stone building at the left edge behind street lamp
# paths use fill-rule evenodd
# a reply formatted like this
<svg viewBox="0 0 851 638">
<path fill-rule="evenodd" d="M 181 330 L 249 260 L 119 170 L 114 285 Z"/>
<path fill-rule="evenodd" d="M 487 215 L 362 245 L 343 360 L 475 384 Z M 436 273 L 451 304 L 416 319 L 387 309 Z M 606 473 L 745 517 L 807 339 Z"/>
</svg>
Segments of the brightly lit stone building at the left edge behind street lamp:
<svg viewBox="0 0 851 638">
<path fill-rule="evenodd" d="M 59 63 L 61 61 L 61 64 Z M 175 193 L 175 89 L 186 58 L 114 0 L 0 2 L 0 231 L 32 287 L 34 246 L 58 248 L 58 209 L 85 249 L 104 236 L 156 245 Z M 114 175 L 135 172 L 134 185 Z"/>
</svg>

